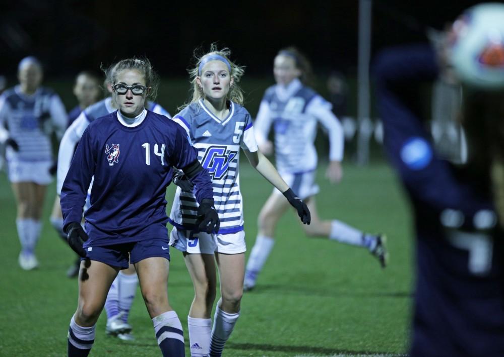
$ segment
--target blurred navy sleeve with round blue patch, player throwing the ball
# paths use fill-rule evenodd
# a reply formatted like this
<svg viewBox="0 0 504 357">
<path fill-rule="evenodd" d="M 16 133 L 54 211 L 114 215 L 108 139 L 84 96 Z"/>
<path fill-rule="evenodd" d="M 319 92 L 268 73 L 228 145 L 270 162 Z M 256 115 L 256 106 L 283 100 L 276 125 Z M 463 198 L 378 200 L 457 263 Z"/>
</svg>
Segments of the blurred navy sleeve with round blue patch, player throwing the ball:
<svg viewBox="0 0 504 357">
<path fill-rule="evenodd" d="M 402 90 L 437 76 L 434 50 L 425 45 L 387 49 L 376 57 L 372 69 L 384 147 L 409 194 L 438 212 L 461 211 L 471 218 L 466 223 L 479 210 L 493 210 L 490 202 L 457 180 L 448 162 L 437 157 L 424 123 L 409 105 L 418 99 Z"/>
</svg>

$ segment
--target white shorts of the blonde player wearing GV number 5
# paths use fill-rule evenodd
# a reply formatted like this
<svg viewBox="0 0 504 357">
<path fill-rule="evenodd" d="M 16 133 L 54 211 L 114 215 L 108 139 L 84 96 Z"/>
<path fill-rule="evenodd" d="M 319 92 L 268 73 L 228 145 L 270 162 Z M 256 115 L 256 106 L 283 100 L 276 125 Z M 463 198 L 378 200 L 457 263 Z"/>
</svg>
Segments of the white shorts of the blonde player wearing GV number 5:
<svg viewBox="0 0 504 357">
<path fill-rule="evenodd" d="M 204 232 L 178 229 L 170 233 L 170 245 L 190 254 L 239 254 L 247 250 L 245 231 L 230 234 L 208 234 Z"/>
</svg>

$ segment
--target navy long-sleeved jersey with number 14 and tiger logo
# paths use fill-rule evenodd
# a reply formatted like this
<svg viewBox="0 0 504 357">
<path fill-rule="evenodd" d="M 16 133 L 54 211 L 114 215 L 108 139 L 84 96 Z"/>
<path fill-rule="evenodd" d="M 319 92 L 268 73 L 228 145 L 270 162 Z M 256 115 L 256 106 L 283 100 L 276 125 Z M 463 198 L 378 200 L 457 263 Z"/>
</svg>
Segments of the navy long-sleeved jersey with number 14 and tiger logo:
<svg viewBox="0 0 504 357">
<path fill-rule="evenodd" d="M 94 175 L 91 207 L 85 212 L 88 246 L 165 237 L 166 187 L 172 167 L 198 159 L 187 133 L 165 116 L 147 111 L 135 127 L 122 125 L 117 112 L 94 120 L 84 131 L 61 190 L 64 225 L 80 222 Z M 213 198 L 207 170 L 192 180 L 196 198 Z"/>
</svg>

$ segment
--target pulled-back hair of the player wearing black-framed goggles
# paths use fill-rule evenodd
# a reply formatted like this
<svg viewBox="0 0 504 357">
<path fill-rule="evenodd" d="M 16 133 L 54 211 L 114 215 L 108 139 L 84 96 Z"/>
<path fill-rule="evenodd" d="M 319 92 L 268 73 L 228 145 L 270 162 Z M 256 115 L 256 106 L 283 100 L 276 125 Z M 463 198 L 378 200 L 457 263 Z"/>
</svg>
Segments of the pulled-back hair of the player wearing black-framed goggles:
<svg viewBox="0 0 504 357">
<path fill-rule="evenodd" d="M 117 74 L 126 69 L 136 69 L 143 73 L 145 79 L 145 85 L 151 87 L 151 90 L 147 93 L 146 100 L 154 101 L 157 97 L 157 88 L 159 85 L 159 75 L 154 71 L 151 62 L 147 58 L 127 58 L 122 59 L 119 62 L 112 64 L 110 67 L 105 68 L 103 65 L 101 69 L 105 72 L 105 82 L 110 83 L 112 86 L 117 80 Z"/>
</svg>

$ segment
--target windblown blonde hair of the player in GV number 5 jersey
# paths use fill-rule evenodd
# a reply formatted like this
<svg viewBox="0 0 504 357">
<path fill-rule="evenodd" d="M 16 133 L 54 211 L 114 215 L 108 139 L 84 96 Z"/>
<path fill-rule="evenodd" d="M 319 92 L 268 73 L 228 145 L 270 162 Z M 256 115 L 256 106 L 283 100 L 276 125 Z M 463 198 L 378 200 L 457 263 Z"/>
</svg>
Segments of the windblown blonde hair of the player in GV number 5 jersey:
<svg viewBox="0 0 504 357">
<path fill-rule="evenodd" d="M 195 65 L 192 66 L 192 68 L 188 69 L 187 71 L 189 72 L 189 77 L 190 77 L 190 83 L 192 84 L 191 86 L 191 92 L 192 92 L 192 98 L 190 101 L 184 103 L 182 106 L 178 108 L 178 110 L 182 110 L 183 108 L 187 107 L 188 105 L 191 105 L 193 103 L 198 103 L 198 101 L 202 98 L 205 98 L 205 94 L 203 93 L 203 88 L 201 88 L 198 83 L 196 82 L 196 78 L 200 75 L 200 64 L 201 62 L 207 57 L 211 55 L 218 55 L 224 57 L 228 63 L 229 66 L 231 67 L 231 73 L 229 75 L 233 78 L 233 85 L 229 88 L 229 92 L 226 96 L 226 100 L 232 101 L 234 103 L 243 104 L 243 90 L 240 88 L 240 86 L 237 84 L 243 73 L 245 72 L 245 67 L 244 66 L 239 66 L 236 63 L 232 62 L 229 59 L 229 56 L 231 55 L 231 50 L 227 47 L 222 48 L 220 50 L 217 49 L 217 45 L 215 43 L 212 43 L 210 45 L 210 51 L 201 54 L 202 49 L 197 48 L 194 51 L 194 61 Z"/>
</svg>

